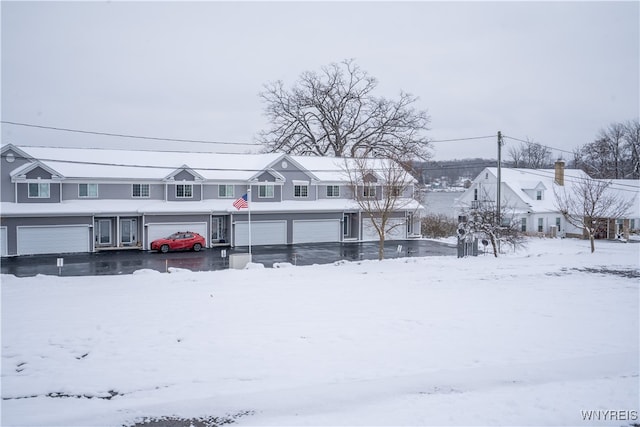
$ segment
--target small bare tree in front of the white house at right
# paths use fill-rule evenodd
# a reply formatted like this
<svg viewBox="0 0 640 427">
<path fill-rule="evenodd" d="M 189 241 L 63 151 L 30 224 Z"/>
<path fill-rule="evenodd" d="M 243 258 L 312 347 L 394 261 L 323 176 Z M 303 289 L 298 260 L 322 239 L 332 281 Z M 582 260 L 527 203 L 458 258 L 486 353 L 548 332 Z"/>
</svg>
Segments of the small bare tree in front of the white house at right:
<svg viewBox="0 0 640 427">
<path fill-rule="evenodd" d="M 576 179 L 570 186 L 554 186 L 556 207 L 567 222 L 580 228 L 595 252 L 595 233 L 602 221 L 623 218 L 635 202 L 625 200 L 613 191 L 611 181 L 592 178 Z"/>
</svg>

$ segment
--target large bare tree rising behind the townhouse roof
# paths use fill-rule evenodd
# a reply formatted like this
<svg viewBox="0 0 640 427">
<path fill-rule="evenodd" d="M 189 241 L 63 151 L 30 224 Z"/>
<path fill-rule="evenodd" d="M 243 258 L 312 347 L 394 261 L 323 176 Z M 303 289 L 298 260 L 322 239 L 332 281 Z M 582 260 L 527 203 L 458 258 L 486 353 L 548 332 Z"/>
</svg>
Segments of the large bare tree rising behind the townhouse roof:
<svg viewBox="0 0 640 427">
<path fill-rule="evenodd" d="M 260 97 L 272 126 L 258 139 L 267 152 L 428 159 L 429 116 L 414 108 L 418 98 L 375 97 L 377 85 L 353 60 L 304 72 L 291 90 L 268 83 Z"/>
</svg>

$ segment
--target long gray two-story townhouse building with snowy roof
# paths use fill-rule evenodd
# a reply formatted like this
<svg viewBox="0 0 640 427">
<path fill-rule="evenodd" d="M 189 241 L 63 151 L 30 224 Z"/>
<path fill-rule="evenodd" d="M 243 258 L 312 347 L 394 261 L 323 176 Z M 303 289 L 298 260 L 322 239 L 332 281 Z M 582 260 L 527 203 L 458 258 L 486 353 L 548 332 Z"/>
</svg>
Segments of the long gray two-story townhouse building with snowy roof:
<svg viewBox="0 0 640 427">
<path fill-rule="evenodd" d="M 349 159 L 3 145 L 2 256 L 149 249 L 178 231 L 208 247 L 378 240 L 354 192 L 382 198 L 371 171 L 353 186 Z M 388 240 L 419 235 L 424 208 L 411 180 Z M 233 202 L 244 194 L 249 209 Z"/>
</svg>

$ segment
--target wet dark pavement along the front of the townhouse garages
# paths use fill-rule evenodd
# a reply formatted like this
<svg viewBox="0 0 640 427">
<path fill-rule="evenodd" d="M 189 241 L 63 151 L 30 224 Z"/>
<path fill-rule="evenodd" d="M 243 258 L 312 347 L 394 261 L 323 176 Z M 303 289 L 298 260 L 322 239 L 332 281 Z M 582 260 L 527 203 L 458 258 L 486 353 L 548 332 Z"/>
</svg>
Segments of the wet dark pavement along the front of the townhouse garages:
<svg viewBox="0 0 640 427">
<path fill-rule="evenodd" d="M 401 247 L 399 247 L 399 245 Z M 398 250 L 399 249 L 399 250 Z M 226 257 L 223 257 L 223 250 Z M 210 248 L 200 252 L 170 252 L 166 254 L 140 250 L 104 251 L 90 254 L 29 255 L 2 258 L 0 272 L 19 277 L 37 274 L 62 276 L 95 276 L 131 274 L 140 269 L 166 271 L 186 268 L 192 271 L 212 271 L 229 268 L 229 255 L 247 253 L 247 247 Z M 255 246 L 253 262 L 273 267 L 274 263 L 293 265 L 329 264 L 335 261 L 357 261 L 378 258 L 378 243 L 310 243 L 296 245 Z M 385 258 L 455 256 L 455 246 L 430 240 L 385 242 Z M 64 266 L 58 269 L 58 258 Z"/>
</svg>

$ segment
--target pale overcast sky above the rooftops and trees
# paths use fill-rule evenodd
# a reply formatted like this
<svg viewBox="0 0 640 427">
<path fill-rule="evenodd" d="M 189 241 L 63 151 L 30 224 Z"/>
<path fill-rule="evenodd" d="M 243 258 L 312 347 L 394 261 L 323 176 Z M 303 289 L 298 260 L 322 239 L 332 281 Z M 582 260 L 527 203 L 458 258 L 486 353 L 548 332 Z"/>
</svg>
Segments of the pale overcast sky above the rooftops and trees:
<svg viewBox="0 0 640 427">
<path fill-rule="evenodd" d="M 417 95 L 434 140 L 500 130 L 571 150 L 639 116 L 637 1 L 3 1 L 1 13 L 3 121 L 253 143 L 268 127 L 265 83 L 346 58 L 379 80 L 376 95 Z M 3 124 L 8 142 L 252 149 Z M 438 142 L 434 154 L 495 158 L 496 145 Z"/>
</svg>

